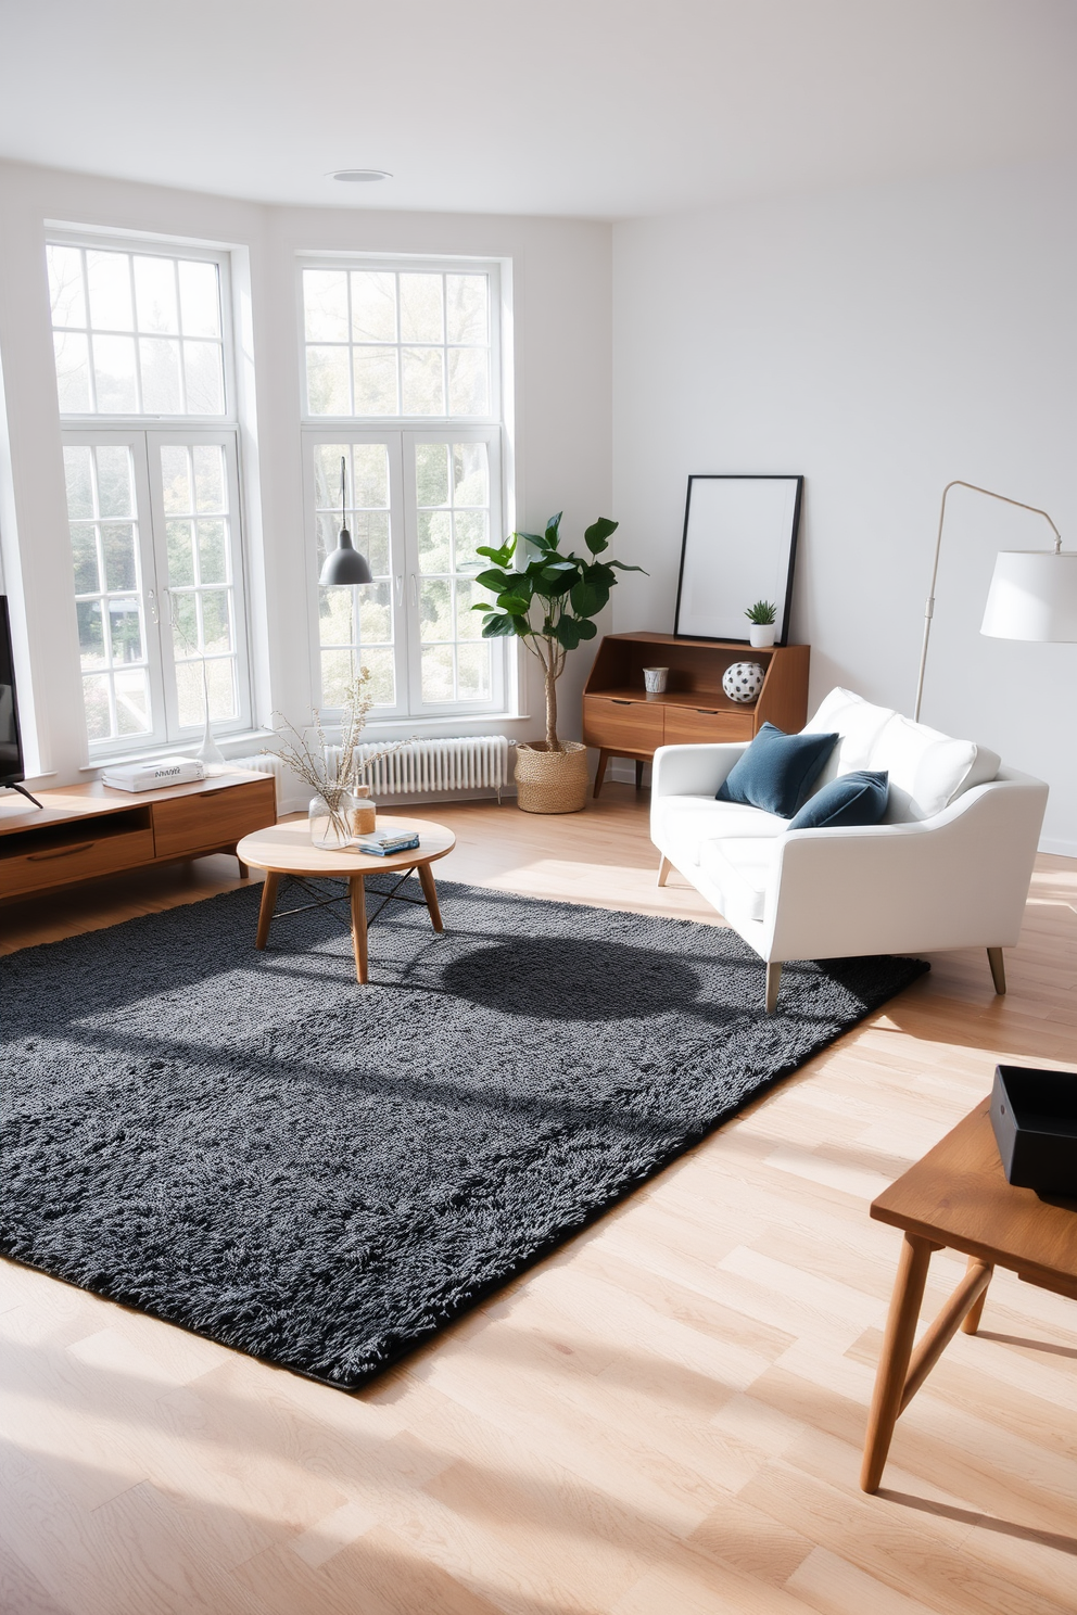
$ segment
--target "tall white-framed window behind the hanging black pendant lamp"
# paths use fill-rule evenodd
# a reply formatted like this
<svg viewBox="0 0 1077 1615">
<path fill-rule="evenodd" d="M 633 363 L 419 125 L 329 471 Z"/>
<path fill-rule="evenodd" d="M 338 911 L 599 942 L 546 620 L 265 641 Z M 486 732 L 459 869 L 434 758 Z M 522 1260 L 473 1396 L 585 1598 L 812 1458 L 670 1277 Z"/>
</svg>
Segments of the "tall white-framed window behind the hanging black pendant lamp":
<svg viewBox="0 0 1077 1615">
<path fill-rule="evenodd" d="M 504 526 L 497 266 L 320 265 L 300 284 L 320 701 L 365 665 L 379 717 L 499 711 L 505 644 L 471 610 L 476 549 Z M 342 522 L 373 583 L 320 588 Z"/>
</svg>

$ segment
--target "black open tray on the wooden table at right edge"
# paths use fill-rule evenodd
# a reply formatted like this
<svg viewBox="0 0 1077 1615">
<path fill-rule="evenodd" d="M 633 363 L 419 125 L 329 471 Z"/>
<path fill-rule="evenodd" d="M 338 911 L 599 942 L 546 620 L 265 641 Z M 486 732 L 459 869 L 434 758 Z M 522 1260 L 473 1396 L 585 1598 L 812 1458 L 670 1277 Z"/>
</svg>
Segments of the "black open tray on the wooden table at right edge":
<svg viewBox="0 0 1077 1615">
<path fill-rule="evenodd" d="M 996 1066 L 991 1127 L 1008 1184 L 1077 1195 L 1077 1071 Z"/>
</svg>

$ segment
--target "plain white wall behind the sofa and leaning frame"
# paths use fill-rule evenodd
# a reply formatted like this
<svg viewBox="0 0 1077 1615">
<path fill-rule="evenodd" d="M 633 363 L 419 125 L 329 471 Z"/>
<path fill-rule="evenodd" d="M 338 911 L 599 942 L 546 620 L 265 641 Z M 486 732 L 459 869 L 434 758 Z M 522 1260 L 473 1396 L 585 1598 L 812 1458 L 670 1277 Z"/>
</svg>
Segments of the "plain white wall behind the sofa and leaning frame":
<svg viewBox="0 0 1077 1615">
<path fill-rule="evenodd" d="M 622 630 L 672 630 L 691 472 L 803 472 L 793 638 L 812 701 L 911 712 L 945 483 L 1051 512 L 1077 547 L 1072 170 L 1025 168 L 614 228 L 614 515 L 649 568 Z M 956 489 L 924 722 L 1046 778 L 1077 856 L 1077 644 L 983 640 L 995 551 L 1043 522 Z M 985 872 L 990 879 L 990 874 Z"/>
</svg>

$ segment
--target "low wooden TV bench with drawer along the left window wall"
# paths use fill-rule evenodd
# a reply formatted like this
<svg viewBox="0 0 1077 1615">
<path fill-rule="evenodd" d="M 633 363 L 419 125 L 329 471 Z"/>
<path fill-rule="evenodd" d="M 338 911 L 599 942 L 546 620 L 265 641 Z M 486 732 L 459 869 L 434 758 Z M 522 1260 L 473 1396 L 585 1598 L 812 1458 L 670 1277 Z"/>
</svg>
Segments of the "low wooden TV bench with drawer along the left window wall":
<svg viewBox="0 0 1077 1615">
<path fill-rule="evenodd" d="M 250 830 L 276 824 L 271 775 L 239 769 L 160 791 L 95 782 L 36 795 L 40 809 L 0 795 L 0 901 L 140 864 L 234 853 Z"/>
</svg>

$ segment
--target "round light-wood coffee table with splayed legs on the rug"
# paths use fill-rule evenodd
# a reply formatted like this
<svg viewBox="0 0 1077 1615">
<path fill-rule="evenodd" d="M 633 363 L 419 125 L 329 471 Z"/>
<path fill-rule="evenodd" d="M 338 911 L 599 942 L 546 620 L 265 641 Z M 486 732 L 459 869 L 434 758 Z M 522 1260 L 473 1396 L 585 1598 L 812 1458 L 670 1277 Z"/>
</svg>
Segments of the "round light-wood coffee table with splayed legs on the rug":
<svg viewBox="0 0 1077 1615">
<path fill-rule="evenodd" d="M 430 819 L 388 819 L 378 814 L 379 830 L 415 830 L 418 846 L 407 853 L 391 853 L 389 858 L 375 858 L 360 853 L 352 846 L 331 853 L 325 846 L 315 846 L 310 840 L 310 824 L 307 819 L 292 819 L 289 824 L 274 824 L 266 830 L 255 830 L 245 835 L 236 848 L 241 864 L 254 869 L 265 869 L 265 887 L 262 888 L 262 909 L 258 912 L 258 935 L 255 948 L 265 948 L 270 940 L 273 908 L 276 904 L 276 888 L 281 875 L 313 875 L 347 880 L 352 904 L 352 946 L 355 948 L 355 979 L 368 980 L 367 974 L 367 891 L 363 880 L 367 875 L 384 875 L 394 870 L 418 870 L 423 887 L 423 898 L 430 909 L 434 930 L 444 930 L 441 909 L 438 908 L 438 888 L 430 866 L 444 858 L 457 845 L 452 830 L 444 824 L 431 824 Z M 417 900 L 415 900 L 417 901 Z"/>
</svg>

